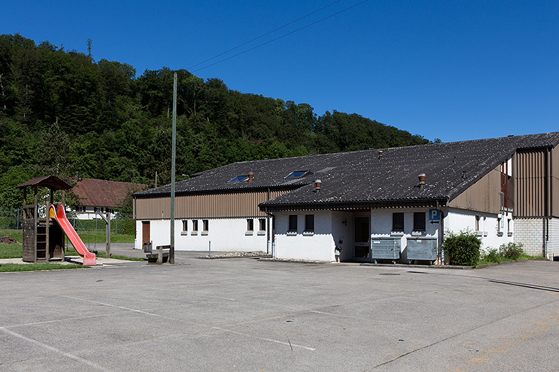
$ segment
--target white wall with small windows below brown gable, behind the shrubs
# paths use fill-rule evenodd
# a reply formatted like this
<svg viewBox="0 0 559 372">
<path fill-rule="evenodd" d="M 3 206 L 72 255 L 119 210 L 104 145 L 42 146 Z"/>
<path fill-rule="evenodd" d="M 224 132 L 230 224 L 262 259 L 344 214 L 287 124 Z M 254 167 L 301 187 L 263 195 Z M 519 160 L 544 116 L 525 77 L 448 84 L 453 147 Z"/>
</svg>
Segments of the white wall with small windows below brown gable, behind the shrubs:
<svg viewBox="0 0 559 372">
<path fill-rule="evenodd" d="M 498 229 L 497 214 L 483 214 L 481 212 L 466 211 L 464 209 L 449 209 L 444 213 L 444 231 L 460 234 L 460 231 L 475 231 L 482 240 L 482 249 L 498 249 L 500 245 L 513 241 L 514 222 L 512 215 L 502 216 L 502 223 Z M 480 229 L 475 229 L 475 216 L 480 216 Z M 500 234 L 502 233 L 502 234 Z"/>
</svg>

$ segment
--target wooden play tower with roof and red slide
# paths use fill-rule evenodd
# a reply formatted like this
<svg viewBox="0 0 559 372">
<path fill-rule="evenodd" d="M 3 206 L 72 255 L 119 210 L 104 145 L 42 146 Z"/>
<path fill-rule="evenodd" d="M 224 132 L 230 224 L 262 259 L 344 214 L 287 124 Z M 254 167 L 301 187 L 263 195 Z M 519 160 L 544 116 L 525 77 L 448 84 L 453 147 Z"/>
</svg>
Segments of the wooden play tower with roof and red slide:
<svg viewBox="0 0 559 372">
<path fill-rule="evenodd" d="M 39 188 L 50 191 L 50 202 L 39 203 Z M 88 251 L 64 211 L 64 193 L 72 187 L 56 176 L 43 176 L 17 186 L 23 190 L 23 261 L 49 262 L 64 260 L 64 237 L 84 258 L 84 265 L 96 265 L 95 254 Z M 33 203 L 27 201 L 28 189 L 33 190 Z M 55 192 L 61 190 L 61 203 L 54 203 Z M 109 233 L 110 234 L 110 233 Z M 110 238 L 109 238 L 110 239 Z M 110 240 L 109 240 L 110 241 Z"/>
</svg>

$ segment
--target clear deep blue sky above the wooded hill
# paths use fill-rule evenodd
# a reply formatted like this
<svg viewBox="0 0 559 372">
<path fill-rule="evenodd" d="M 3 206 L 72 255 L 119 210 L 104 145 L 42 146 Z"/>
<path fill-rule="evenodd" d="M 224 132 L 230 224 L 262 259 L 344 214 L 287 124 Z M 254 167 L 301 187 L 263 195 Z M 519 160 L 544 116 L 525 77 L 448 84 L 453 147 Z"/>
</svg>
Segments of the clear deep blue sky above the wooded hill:
<svg viewBox="0 0 559 372">
<path fill-rule="evenodd" d="M 559 130 L 559 1 L 366 1 L 193 65 L 335 0 L 10 1 L 0 33 L 232 90 L 357 113 L 444 142 Z M 362 0 L 341 0 L 210 63 Z M 210 64 L 206 63 L 206 65 Z"/>
</svg>

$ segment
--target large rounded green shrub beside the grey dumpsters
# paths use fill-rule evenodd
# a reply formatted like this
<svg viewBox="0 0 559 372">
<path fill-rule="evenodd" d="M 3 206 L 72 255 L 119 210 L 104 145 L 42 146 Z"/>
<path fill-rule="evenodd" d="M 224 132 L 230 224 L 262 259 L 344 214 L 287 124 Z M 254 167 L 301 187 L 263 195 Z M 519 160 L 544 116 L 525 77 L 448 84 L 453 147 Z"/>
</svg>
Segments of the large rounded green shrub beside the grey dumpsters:
<svg viewBox="0 0 559 372">
<path fill-rule="evenodd" d="M 474 231 L 460 231 L 460 234 L 447 233 L 442 243 L 444 254 L 450 265 L 475 266 L 480 260 L 481 240 Z"/>
</svg>

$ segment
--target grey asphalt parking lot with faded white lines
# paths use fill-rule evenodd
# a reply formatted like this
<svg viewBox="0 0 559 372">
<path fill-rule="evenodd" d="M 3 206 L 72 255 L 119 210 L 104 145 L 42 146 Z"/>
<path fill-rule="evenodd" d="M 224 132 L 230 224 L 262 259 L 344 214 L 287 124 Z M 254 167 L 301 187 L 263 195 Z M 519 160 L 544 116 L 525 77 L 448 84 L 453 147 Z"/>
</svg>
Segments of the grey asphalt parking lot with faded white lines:
<svg viewBox="0 0 559 372">
<path fill-rule="evenodd" d="M 0 371 L 559 370 L 559 262 L 196 256 L 0 273 Z"/>
</svg>

